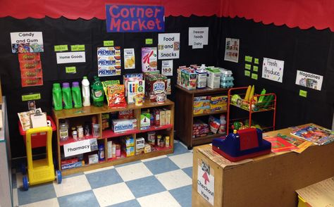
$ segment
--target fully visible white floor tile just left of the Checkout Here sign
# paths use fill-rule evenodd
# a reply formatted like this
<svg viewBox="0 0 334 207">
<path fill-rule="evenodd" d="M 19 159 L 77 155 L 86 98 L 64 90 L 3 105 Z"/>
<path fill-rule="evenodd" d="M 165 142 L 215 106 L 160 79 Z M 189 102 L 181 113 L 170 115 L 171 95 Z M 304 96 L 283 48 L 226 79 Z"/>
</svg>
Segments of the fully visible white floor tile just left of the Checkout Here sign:
<svg viewBox="0 0 334 207">
<path fill-rule="evenodd" d="M 183 170 L 173 170 L 156 175 L 156 178 L 167 190 L 192 184 L 192 179 Z"/>
</svg>

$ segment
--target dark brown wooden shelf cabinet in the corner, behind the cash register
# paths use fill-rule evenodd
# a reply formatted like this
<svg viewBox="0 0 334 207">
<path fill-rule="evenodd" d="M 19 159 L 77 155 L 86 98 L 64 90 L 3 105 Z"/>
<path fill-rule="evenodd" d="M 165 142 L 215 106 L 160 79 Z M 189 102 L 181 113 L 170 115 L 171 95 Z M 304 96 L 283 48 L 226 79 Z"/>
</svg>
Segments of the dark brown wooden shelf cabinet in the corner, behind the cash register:
<svg viewBox="0 0 334 207">
<path fill-rule="evenodd" d="M 204 113 L 194 115 L 194 97 L 195 96 L 218 96 L 227 95 L 228 89 L 196 89 L 187 90 L 180 86 L 175 86 L 175 130 L 176 136 L 187 145 L 188 149 L 192 149 L 192 146 L 199 144 L 206 144 L 212 142 L 212 139 L 220 137 L 221 134 L 212 134 L 205 137 L 192 138 L 192 125 L 194 118 L 200 116 L 208 116 L 226 113 L 225 111 L 216 111 L 213 113 Z"/>
</svg>

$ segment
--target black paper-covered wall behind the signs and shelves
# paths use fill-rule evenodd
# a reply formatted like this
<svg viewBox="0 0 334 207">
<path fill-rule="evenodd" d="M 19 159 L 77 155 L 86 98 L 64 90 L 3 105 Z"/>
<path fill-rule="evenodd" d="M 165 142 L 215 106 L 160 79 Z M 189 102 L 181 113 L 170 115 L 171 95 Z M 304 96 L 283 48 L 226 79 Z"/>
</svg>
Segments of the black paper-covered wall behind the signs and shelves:
<svg viewBox="0 0 334 207">
<path fill-rule="evenodd" d="M 256 92 L 263 87 L 267 92 L 278 96 L 276 126 L 288 127 L 303 123 L 317 123 L 330 127 L 333 117 L 334 65 L 333 33 L 329 30 L 300 30 L 286 26 L 263 25 L 253 20 L 242 18 L 217 18 L 190 16 L 167 17 L 166 32 L 180 32 L 180 58 L 173 61 L 172 86 L 176 82 L 176 68 L 179 65 L 202 64 L 219 65 L 233 70 L 235 84 L 247 86 L 256 84 Z M 18 133 L 18 112 L 27 111 L 27 102 L 21 96 L 39 92 L 42 99 L 37 100 L 37 107 L 51 114 L 51 86 L 54 82 L 73 82 L 82 80 L 82 76 L 97 75 L 97 47 L 103 46 L 104 40 L 113 40 L 115 46 L 135 48 L 136 69 L 123 70 L 124 73 L 141 72 L 141 48 L 157 46 L 157 33 L 107 33 L 104 20 L 68 20 L 66 18 L 0 18 L 0 75 L 3 94 L 8 101 L 8 119 L 11 135 L 11 152 L 13 158 L 25 156 L 23 138 Z M 189 27 L 209 27 L 209 44 L 204 49 L 192 49 L 188 46 Z M 10 32 L 43 32 L 44 52 L 42 68 L 44 85 L 41 87 L 21 87 L 18 55 L 11 54 Z M 239 63 L 223 61 L 225 38 L 240 39 Z M 152 38 L 152 45 L 146 45 L 145 39 Z M 54 45 L 85 44 L 86 63 L 56 63 Z M 123 50 L 122 50 L 123 52 Z M 245 77 L 245 55 L 259 58 L 259 79 Z M 123 54 L 122 54 L 123 56 Z M 285 61 L 283 83 L 261 78 L 262 58 L 275 58 Z M 77 73 L 67 74 L 66 66 L 76 66 Z M 161 61 L 158 64 L 161 68 Z M 295 84 L 296 70 L 304 70 L 324 76 L 321 92 L 307 89 Z M 122 79 L 121 76 L 104 77 L 102 80 Z M 299 89 L 307 90 L 307 98 L 299 96 Z M 172 95 L 169 97 L 173 98 Z M 176 117 L 177 118 L 177 117 Z"/>
</svg>

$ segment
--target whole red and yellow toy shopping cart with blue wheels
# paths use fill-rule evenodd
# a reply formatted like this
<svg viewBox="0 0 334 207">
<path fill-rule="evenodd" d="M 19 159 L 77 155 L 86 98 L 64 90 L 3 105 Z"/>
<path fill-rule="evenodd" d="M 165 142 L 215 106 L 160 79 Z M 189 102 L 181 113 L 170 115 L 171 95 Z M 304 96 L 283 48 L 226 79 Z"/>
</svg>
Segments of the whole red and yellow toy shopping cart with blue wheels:
<svg viewBox="0 0 334 207">
<path fill-rule="evenodd" d="M 56 130 L 52 119 L 48 116 L 47 120 L 51 120 L 52 127 L 36 127 L 27 131 L 22 130 L 19 125 L 20 134 L 25 139 L 25 149 L 27 151 L 27 175 L 23 176 L 23 189 L 27 190 L 30 185 L 41 184 L 44 182 L 54 181 L 61 183 L 61 171 L 54 170 L 54 162 L 52 158 L 52 131 Z M 22 130 L 22 131 L 21 131 Z M 47 156 L 44 159 L 32 160 L 32 148 L 46 146 Z M 25 174 L 25 166 L 21 169 Z"/>
</svg>

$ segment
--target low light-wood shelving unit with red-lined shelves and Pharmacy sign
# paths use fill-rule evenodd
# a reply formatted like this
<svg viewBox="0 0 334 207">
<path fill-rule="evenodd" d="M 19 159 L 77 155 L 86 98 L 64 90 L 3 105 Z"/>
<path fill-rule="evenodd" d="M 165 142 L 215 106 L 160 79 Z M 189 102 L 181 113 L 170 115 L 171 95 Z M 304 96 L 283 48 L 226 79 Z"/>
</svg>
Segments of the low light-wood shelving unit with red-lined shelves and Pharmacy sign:
<svg viewBox="0 0 334 207">
<path fill-rule="evenodd" d="M 171 124 L 170 125 L 163 125 L 161 127 L 150 127 L 147 130 L 140 130 L 140 114 L 142 109 L 147 108 L 168 108 L 171 110 Z M 125 111 L 132 109 L 134 112 L 134 118 L 137 119 L 137 129 L 136 130 L 130 130 L 128 132 L 123 133 L 115 133 L 112 130 L 102 130 L 102 113 L 111 113 L 115 111 Z M 102 106 L 102 107 L 95 107 L 95 106 L 88 106 L 88 107 L 82 107 L 82 108 L 72 108 L 69 110 L 62 110 L 62 111 L 52 111 L 54 120 L 57 126 L 57 129 L 59 129 L 59 122 L 63 119 L 69 119 L 70 123 L 80 123 L 83 125 L 85 123 L 85 120 L 90 120 L 92 118 L 92 115 L 97 116 L 97 123 L 100 124 L 100 134 L 98 137 L 85 137 L 85 139 L 97 139 L 98 142 L 104 143 L 104 153 L 105 155 L 108 154 L 108 148 L 107 146 L 107 140 L 108 139 L 116 139 L 117 137 L 123 137 L 125 135 L 132 135 L 134 139 L 136 139 L 137 134 L 142 134 L 145 132 L 151 132 L 151 131 L 159 131 L 164 135 L 167 135 L 170 137 L 170 146 L 159 148 L 154 147 L 154 151 L 151 151 L 150 153 L 142 153 L 135 156 L 129 156 L 126 157 L 125 153 L 122 152 L 122 156 L 120 158 L 109 158 L 105 161 L 100 161 L 99 163 L 88 165 L 88 163 L 85 163 L 85 166 L 78 167 L 78 168 L 72 168 L 68 170 L 61 170 L 61 151 L 63 150 L 64 144 L 69 144 L 72 142 L 75 142 L 72 137 L 69 137 L 69 139 L 66 142 L 60 142 L 59 139 L 59 130 L 57 130 L 57 151 L 58 151 L 58 169 L 62 171 L 63 175 L 70 175 L 76 172 L 83 172 L 87 170 L 94 170 L 97 168 L 104 168 L 106 166 L 110 165 L 118 165 L 122 163 L 128 163 L 131 161 L 137 161 L 145 158 L 152 158 L 155 156 L 162 156 L 166 155 L 168 153 L 173 153 L 173 132 L 174 132 L 174 102 L 167 100 L 165 103 L 151 103 L 150 101 L 145 101 L 145 103 L 142 106 L 135 106 L 135 104 L 128 104 L 125 108 L 109 108 L 108 106 Z"/>
</svg>

